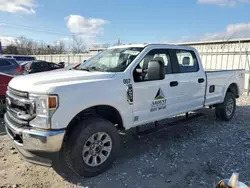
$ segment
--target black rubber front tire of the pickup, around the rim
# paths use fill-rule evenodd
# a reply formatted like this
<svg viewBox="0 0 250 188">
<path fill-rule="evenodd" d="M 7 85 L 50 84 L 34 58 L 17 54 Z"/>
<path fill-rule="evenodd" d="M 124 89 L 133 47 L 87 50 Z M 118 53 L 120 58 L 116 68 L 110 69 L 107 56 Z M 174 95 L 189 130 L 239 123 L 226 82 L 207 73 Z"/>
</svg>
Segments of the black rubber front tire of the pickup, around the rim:
<svg viewBox="0 0 250 188">
<path fill-rule="evenodd" d="M 112 140 L 111 152 L 102 164 L 90 166 L 83 160 L 83 148 L 87 140 L 95 133 L 104 132 Z M 109 169 L 114 162 L 120 148 L 120 136 L 116 127 L 102 118 L 91 118 L 79 122 L 70 132 L 64 143 L 64 157 L 69 167 L 78 175 L 83 177 L 96 176 Z M 93 159 L 92 159 L 93 160 Z"/>
</svg>

